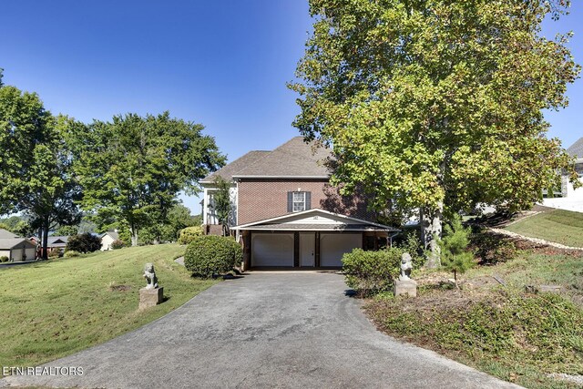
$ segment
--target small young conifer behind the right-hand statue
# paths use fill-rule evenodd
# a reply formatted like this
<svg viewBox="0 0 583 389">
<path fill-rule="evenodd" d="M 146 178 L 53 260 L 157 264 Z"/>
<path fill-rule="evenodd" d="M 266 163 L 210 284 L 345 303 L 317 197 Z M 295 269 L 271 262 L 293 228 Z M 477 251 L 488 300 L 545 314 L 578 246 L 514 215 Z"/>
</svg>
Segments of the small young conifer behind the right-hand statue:
<svg viewBox="0 0 583 389">
<path fill-rule="evenodd" d="M 467 250 L 471 232 L 471 228 L 464 228 L 461 218 L 456 216 L 451 224 L 445 224 L 444 237 L 438 240 L 442 253 L 441 263 L 445 269 L 454 272 L 456 286 L 457 273 L 463 274 L 476 264 L 474 253 Z"/>
</svg>

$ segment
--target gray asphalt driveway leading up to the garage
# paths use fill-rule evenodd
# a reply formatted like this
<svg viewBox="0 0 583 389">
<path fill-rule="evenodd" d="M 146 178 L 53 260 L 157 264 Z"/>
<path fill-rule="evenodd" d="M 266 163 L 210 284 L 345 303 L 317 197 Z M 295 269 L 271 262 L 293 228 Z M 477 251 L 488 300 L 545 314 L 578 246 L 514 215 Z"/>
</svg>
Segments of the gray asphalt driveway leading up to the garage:
<svg viewBox="0 0 583 389">
<path fill-rule="evenodd" d="M 82 367 L 83 375 L 10 376 L 0 386 L 517 387 L 379 333 L 345 290 L 333 273 L 253 272 L 46 365 Z"/>
</svg>

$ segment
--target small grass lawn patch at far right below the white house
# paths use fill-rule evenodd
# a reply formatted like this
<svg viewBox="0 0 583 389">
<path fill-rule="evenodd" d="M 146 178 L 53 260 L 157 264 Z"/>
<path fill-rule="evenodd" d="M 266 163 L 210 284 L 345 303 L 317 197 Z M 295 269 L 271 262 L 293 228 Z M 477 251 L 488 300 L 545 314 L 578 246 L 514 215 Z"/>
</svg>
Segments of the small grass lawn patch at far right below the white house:
<svg viewBox="0 0 583 389">
<path fill-rule="evenodd" d="M 570 210 L 547 210 L 518 220 L 505 230 L 531 238 L 583 247 L 583 213 Z"/>
</svg>

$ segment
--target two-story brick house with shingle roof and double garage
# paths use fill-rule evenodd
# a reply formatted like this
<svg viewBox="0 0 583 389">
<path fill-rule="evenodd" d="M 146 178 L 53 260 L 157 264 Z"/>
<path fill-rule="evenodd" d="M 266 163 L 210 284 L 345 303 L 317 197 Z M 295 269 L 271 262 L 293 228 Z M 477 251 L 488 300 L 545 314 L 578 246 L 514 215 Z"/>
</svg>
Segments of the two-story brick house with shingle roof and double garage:
<svg viewBox="0 0 583 389">
<path fill-rule="evenodd" d="M 231 183 L 230 230 L 247 268 L 339 268 L 354 248 L 377 249 L 398 231 L 378 224 L 366 199 L 330 183 L 330 152 L 302 137 L 272 151 L 251 151 L 203 179 L 203 220 L 212 231 L 214 179 Z"/>
</svg>

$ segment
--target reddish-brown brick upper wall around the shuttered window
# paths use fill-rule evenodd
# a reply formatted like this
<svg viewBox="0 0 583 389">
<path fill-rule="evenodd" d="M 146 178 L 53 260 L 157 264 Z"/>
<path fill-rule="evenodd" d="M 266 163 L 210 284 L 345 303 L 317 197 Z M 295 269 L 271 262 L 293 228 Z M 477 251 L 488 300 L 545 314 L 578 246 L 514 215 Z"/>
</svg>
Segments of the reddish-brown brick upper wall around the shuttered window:
<svg viewBox="0 0 583 389">
<path fill-rule="evenodd" d="M 346 216 L 375 221 L 366 210 L 363 196 L 342 197 L 327 180 L 241 179 L 239 182 L 239 224 L 288 214 L 289 191 L 312 192 L 312 209 L 321 208 Z"/>
</svg>

